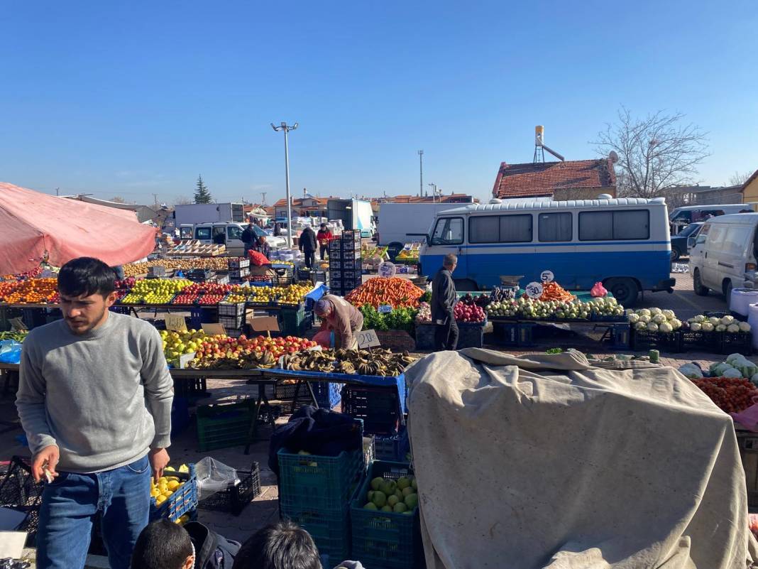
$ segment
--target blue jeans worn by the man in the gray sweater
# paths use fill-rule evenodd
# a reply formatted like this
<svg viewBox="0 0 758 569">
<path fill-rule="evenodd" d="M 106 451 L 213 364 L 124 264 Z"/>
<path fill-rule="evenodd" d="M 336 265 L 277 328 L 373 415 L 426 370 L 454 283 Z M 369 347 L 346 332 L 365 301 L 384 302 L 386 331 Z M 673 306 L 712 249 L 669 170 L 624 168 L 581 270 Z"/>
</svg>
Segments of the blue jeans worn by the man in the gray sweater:
<svg viewBox="0 0 758 569">
<path fill-rule="evenodd" d="M 92 518 L 99 513 L 111 569 L 129 569 L 134 544 L 149 521 L 150 476 L 147 456 L 96 474 L 58 473 L 42 492 L 36 566 L 82 569 Z"/>
</svg>

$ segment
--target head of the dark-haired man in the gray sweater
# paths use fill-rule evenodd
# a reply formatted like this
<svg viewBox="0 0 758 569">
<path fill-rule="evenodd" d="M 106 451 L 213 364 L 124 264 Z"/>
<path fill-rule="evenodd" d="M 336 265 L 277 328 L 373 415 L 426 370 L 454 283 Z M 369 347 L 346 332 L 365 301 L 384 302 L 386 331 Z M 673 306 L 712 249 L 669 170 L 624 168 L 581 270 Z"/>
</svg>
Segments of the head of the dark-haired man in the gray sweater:
<svg viewBox="0 0 758 569">
<path fill-rule="evenodd" d="M 72 259 L 58 272 L 61 312 L 74 334 L 85 334 L 108 318 L 116 301 L 116 275 L 100 259 Z"/>
</svg>

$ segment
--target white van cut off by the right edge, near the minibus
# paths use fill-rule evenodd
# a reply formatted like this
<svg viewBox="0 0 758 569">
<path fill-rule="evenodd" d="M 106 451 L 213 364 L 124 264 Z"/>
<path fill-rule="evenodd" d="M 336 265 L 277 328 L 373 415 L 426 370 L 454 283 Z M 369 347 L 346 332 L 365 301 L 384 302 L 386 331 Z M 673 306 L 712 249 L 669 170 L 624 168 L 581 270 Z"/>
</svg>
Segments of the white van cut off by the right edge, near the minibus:
<svg viewBox="0 0 758 569">
<path fill-rule="evenodd" d="M 695 294 L 724 294 L 732 288 L 758 288 L 756 273 L 758 213 L 719 215 L 703 224 L 690 251 Z"/>
</svg>

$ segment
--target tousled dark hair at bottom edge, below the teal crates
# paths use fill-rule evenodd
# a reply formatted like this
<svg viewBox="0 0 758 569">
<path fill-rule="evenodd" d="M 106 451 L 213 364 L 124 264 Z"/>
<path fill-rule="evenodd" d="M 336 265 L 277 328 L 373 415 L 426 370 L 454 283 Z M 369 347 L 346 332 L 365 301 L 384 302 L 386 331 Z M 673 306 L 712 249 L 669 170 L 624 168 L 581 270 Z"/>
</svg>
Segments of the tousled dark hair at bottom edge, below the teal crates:
<svg viewBox="0 0 758 569">
<path fill-rule="evenodd" d="M 321 569 L 321 561 L 311 534 L 290 521 L 279 521 L 243 543 L 232 569 Z"/>
</svg>

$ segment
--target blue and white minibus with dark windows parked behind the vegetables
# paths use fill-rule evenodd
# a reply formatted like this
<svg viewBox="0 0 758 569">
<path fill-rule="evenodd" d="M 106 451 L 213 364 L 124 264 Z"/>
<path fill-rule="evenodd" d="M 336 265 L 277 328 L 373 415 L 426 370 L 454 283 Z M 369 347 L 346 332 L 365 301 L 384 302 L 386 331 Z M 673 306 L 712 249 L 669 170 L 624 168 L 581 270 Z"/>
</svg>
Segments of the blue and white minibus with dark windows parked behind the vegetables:
<svg viewBox="0 0 758 569">
<path fill-rule="evenodd" d="M 568 290 L 601 281 L 624 306 L 641 291 L 673 291 L 663 198 L 493 202 L 437 212 L 419 274 L 434 275 L 454 253 L 462 291 L 500 285 L 500 275 L 524 275 L 523 286 L 545 270 Z"/>
</svg>

